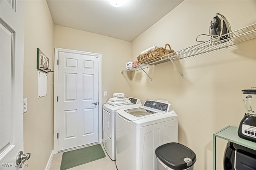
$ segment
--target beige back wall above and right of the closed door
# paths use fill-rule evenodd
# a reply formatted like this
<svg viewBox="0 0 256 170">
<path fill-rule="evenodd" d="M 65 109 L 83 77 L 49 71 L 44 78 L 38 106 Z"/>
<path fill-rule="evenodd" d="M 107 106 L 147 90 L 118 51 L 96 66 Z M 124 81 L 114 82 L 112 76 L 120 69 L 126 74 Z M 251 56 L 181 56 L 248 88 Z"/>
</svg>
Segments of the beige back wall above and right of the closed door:
<svg viewBox="0 0 256 170">
<path fill-rule="evenodd" d="M 125 78 L 120 73 L 131 57 L 130 42 L 54 25 L 54 47 L 102 54 L 102 103 L 113 93 L 130 93 L 130 85 L 122 83 Z M 104 91 L 108 97 L 103 97 Z"/>
</svg>

